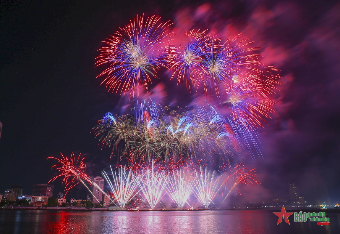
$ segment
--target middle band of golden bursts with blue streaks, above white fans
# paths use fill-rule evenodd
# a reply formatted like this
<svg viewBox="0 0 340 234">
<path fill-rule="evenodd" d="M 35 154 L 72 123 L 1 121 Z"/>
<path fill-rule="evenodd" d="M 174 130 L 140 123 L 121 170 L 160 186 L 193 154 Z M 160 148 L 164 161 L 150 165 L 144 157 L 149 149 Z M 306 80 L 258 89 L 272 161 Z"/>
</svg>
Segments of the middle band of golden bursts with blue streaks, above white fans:
<svg viewBox="0 0 340 234">
<path fill-rule="evenodd" d="M 106 114 L 92 130 L 102 146 L 111 148 L 112 155 L 119 155 L 118 161 L 122 158 L 167 161 L 176 157 L 216 164 L 214 158 L 219 162 L 228 161 L 242 147 L 237 141 L 242 139 L 237 139 L 226 121 L 214 121 L 218 112 L 209 107 L 209 111 L 198 108 L 197 112 L 189 113 L 144 100 L 134 109 L 134 116 L 114 118 Z M 228 129 L 229 139 L 223 137 Z"/>
</svg>

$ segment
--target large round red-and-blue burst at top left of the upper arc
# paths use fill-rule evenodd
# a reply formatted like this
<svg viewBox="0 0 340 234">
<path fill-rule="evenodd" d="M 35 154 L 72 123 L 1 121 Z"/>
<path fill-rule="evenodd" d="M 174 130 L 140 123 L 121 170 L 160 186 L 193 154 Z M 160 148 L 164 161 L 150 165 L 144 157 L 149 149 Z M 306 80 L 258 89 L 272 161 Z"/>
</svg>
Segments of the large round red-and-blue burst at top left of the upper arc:
<svg viewBox="0 0 340 234">
<path fill-rule="evenodd" d="M 169 56 L 168 22 L 160 22 L 159 16 L 144 15 L 130 21 L 105 42 L 100 49 L 97 66 L 108 64 L 98 77 L 104 77 L 108 90 L 130 95 L 138 94 L 138 85 L 148 90 L 152 78 L 157 77 L 160 67 L 167 67 Z M 105 77 L 106 76 L 106 77 Z"/>
</svg>

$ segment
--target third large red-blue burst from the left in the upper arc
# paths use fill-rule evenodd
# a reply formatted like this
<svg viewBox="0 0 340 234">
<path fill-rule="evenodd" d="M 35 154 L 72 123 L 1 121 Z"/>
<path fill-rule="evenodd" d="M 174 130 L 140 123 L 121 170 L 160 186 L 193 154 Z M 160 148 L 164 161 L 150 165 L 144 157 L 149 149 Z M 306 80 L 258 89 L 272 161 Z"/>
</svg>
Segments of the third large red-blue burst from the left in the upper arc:
<svg viewBox="0 0 340 234">
<path fill-rule="evenodd" d="M 221 38 L 213 38 L 209 43 L 205 42 L 202 60 L 195 70 L 197 76 L 194 85 L 198 89 L 200 83 L 203 83 L 203 92 L 206 96 L 211 97 L 213 95 L 211 89 L 215 89 L 217 98 L 221 99 L 220 93 L 228 88 L 229 82 L 235 75 L 261 73 L 257 68 L 260 63 L 254 59 L 258 55 L 248 55 L 250 51 L 259 48 L 248 48 L 251 42 L 245 43 L 246 40 L 237 44 L 235 41 L 238 37 L 240 34 L 223 44 Z"/>
</svg>

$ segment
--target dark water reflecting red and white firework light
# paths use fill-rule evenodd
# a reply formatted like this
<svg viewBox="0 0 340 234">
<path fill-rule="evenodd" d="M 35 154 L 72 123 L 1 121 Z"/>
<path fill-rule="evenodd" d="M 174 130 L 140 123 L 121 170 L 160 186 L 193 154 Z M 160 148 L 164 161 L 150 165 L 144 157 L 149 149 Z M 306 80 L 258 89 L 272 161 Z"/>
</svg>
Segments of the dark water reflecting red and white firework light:
<svg viewBox="0 0 340 234">
<path fill-rule="evenodd" d="M 330 223 L 323 227 L 309 220 L 294 222 L 293 215 L 289 217 L 290 225 L 285 222 L 276 225 L 278 217 L 272 212 L 279 210 L 89 212 L 0 209 L 0 233 L 340 233 L 339 210 L 325 210 Z"/>
</svg>

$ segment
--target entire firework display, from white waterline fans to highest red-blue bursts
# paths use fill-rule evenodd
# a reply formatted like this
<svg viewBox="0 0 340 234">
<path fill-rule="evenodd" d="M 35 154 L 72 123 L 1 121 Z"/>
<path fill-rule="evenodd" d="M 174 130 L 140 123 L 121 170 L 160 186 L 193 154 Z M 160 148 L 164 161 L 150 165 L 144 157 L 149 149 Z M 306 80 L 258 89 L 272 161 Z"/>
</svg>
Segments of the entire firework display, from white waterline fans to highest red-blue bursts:
<svg viewBox="0 0 340 234">
<path fill-rule="evenodd" d="M 96 65 L 107 67 L 98 78 L 116 94 L 131 99 L 141 87 L 148 92 L 157 74 L 166 71 L 177 85 L 185 83 L 190 92 L 210 99 L 193 109 L 143 99 L 133 113 L 108 112 L 97 122 L 92 131 L 101 147 L 111 149 L 111 158 L 119 163 L 128 159 L 102 172 L 111 201 L 121 209 L 137 203 L 166 208 L 167 198 L 178 209 L 221 207 L 238 185 L 257 183 L 255 169 L 231 165 L 244 155 L 261 154 L 257 129 L 273 112 L 278 70 L 265 67 L 254 53 L 259 48 L 240 40 L 240 34 L 224 40 L 208 30 L 188 30 L 175 44 L 170 25 L 159 16 L 137 15 L 99 50 Z M 54 159 L 60 174 L 51 181 L 62 177 L 66 191 L 82 183 L 90 192 L 95 186 L 108 196 L 86 174 L 80 155 Z M 209 170 L 206 164 L 222 170 Z"/>
</svg>

